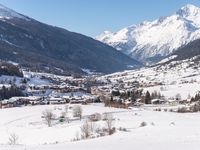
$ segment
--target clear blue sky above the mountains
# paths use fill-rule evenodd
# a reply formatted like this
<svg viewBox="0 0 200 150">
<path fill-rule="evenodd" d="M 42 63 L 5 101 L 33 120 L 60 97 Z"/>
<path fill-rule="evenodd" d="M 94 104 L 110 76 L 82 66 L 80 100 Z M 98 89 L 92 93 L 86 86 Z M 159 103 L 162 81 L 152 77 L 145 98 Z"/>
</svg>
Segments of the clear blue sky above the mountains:
<svg viewBox="0 0 200 150">
<path fill-rule="evenodd" d="M 200 0 L 0 0 L 22 14 L 88 36 L 171 15 Z"/>
</svg>

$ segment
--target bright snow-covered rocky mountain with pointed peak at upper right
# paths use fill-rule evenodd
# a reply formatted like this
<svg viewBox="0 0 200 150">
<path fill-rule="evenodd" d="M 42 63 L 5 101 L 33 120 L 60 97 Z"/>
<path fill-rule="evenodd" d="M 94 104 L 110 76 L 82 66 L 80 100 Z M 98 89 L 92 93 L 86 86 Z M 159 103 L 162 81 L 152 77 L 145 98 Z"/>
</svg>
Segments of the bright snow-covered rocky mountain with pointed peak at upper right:
<svg viewBox="0 0 200 150">
<path fill-rule="evenodd" d="M 169 55 L 200 38 L 200 8 L 188 4 L 169 17 L 145 21 L 116 33 L 105 31 L 96 39 L 141 61 Z"/>
</svg>

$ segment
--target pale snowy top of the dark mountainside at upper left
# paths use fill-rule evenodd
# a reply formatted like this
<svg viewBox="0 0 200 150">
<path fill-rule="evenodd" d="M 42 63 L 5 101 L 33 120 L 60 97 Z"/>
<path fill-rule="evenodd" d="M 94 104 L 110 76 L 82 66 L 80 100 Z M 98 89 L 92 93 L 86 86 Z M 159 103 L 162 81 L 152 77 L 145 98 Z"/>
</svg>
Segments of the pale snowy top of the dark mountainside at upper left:
<svg viewBox="0 0 200 150">
<path fill-rule="evenodd" d="M 21 15 L 15 12 L 14 10 L 9 9 L 0 4 L 0 19 L 12 19 L 12 18 L 20 18 L 20 19 L 29 20 L 28 17 Z"/>
</svg>

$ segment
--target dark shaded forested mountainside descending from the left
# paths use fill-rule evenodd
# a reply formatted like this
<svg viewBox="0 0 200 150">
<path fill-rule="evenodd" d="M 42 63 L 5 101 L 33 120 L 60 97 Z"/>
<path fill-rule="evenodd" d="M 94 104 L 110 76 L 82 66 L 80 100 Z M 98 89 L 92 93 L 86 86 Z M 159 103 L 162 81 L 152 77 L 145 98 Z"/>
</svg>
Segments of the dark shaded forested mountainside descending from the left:
<svg viewBox="0 0 200 150">
<path fill-rule="evenodd" d="M 90 37 L 43 24 L 0 7 L 0 59 L 35 71 L 111 73 L 141 66 L 114 48 Z"/>
</svg>

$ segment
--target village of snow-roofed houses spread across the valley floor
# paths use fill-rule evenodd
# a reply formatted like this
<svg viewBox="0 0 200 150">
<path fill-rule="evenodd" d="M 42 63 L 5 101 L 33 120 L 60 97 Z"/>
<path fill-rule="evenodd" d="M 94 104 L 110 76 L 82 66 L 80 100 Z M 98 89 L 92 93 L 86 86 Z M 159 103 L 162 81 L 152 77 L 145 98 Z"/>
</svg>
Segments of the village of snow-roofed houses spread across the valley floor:
<svg viewBox="0 0 200 150">
<path fill-rule="evenodd" d="M 41 77 L 38 77 L 41 78 Z M 115 83 L 104 83 L 93 78 L 58 78 L 57 76 L 42 76 L 42 79 L 51 81 L 49 84 L 21 84 L 21 89 L 27 94 L 26 97 L 12 97 L 0 101 L 1 108 L 20 107 L 27 105 L 51 105 L 51 104 L 66 104 L 66 103 L 92 103 L 98 97 L 107 96 L 111 97 L 113 90 L 117 89 L 120 93 L 127 93 L 127 91 L 138 90 L 140 87 L 147 87 L 152 85 L 160 85 L 159 82 L 151 82 L 146 85 L 144 82 L 138 81 L 123 82 L 118 80 Z M 152 85 L 151 85 L 152 84 Z M 90 91 L 88 91 L 90 89 Z M 82 93 L 82 94 L 77 94 Z M 98 99 L 99 100 L 99 99 Z M 122 99 L 120 97 L 113 97 L 114 101 L 120 101 L 125 106 L 141 106 L 143 105 L 142 99 L 136 99 L 133 103 L 131 99 Z M 103 101 L 100 99 L 100 101 Z M 152 104 L 185 104 L 189 100 L 164 100 L 153 99 Z"/>
</svg>

